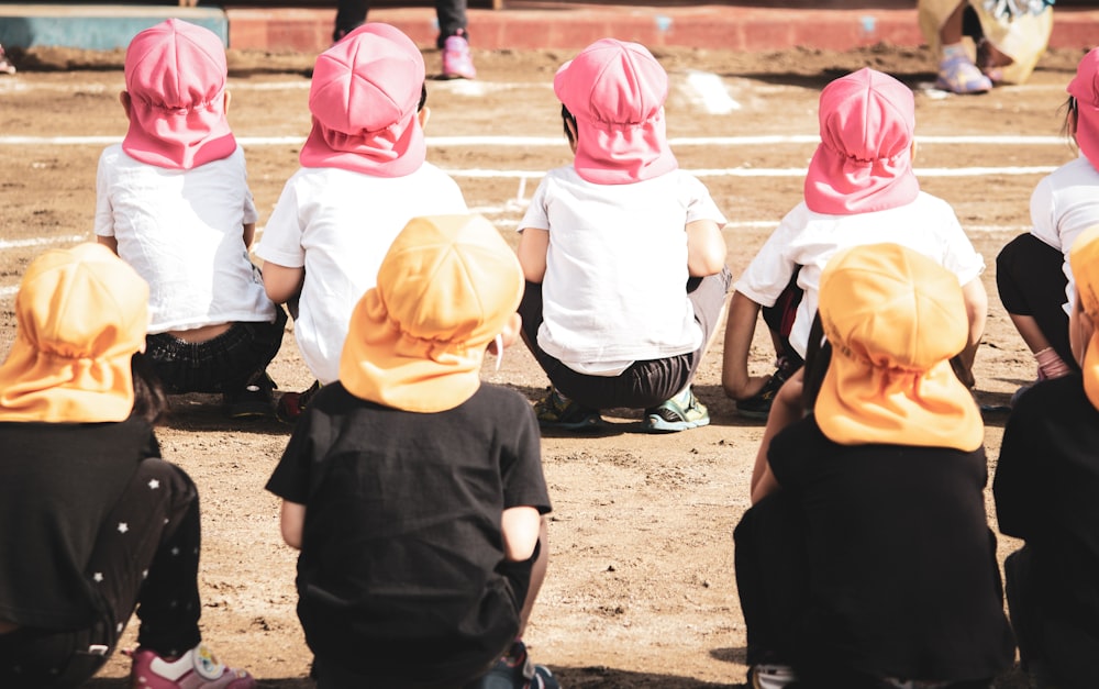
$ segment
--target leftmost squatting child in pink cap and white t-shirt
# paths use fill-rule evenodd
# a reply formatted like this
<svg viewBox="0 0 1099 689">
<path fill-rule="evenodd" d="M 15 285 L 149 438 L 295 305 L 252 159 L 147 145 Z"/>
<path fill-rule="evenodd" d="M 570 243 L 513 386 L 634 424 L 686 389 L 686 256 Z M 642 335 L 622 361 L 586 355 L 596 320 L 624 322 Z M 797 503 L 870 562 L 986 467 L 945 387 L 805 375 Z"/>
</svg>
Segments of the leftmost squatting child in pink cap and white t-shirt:
<svg viewBox="0 0 1099 689">
<path fill-rule="evenodd" d="M 165 389 L 269 416 L 286 313 L 248 257 L 256 208 L 226 75 L 208 29 L 169 19 L 134 36 L 120 96 L 130 129 L 99 158 L 96 234 L 149 285 L 147 355 Z"/>
</svg>

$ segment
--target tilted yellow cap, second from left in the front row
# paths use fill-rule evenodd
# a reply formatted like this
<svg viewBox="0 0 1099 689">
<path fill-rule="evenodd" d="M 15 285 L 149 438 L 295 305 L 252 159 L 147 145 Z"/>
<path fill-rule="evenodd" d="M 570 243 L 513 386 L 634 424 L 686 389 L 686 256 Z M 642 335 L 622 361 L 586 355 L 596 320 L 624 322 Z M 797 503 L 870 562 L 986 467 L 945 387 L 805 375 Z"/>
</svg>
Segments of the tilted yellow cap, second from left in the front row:
<svg viewBox="0 0 1099 689">
<path fill-rule="evenodd" d="M 352 312 L 340 381 L 406 411 L 462 404 L 480 386 L 485 347 L 515 313 L 523 285 L 514 251 L 481 215 L 411 220 Z"/>
</svg>

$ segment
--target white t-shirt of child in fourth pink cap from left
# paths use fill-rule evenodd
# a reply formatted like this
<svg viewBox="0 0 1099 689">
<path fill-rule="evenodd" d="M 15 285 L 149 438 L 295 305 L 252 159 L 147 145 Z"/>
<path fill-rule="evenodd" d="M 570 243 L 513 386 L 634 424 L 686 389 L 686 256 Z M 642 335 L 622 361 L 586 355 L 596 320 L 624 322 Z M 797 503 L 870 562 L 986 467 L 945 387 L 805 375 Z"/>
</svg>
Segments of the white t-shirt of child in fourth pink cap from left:
<svg viewBox="0 0 1099 689">
<path fill-rule="evenodd" d="M 841 248 L 879 243 L 900 244 L 928 256 L 956 275 L 961 285 L 985 270 L 985 259 L 973 248 L 954 209 L 921 191 L 907 205 L 855 215 L 814 213 L 802 201 L 786 214 L 735 288 L 752 301 L 773 307 L 801 266 L 798 287 L 804 296 L 793 320 L 790 345 L 804 356 L 824 265 Z"/>
</svg>

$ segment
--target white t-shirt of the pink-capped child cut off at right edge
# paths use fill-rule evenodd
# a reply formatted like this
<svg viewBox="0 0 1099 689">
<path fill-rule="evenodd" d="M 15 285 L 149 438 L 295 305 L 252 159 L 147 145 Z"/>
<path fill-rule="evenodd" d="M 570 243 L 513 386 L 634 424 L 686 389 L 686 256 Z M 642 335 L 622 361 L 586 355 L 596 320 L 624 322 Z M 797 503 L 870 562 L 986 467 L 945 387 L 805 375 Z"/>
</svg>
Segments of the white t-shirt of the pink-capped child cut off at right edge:
<svg viewBox="0 0 1099 689">
<path fill-rule="evenodd" d="M 1099 171 L 1080 156 L 1042 178 L 1031 195 L 1031 234 L 1065 255 L 1062 268 L 1065 286 L 1065 313 L 1076 300 L 1076 280 L 1068 264 L 1068 252 L 1077 235 L 1099 225 Z"/>
</svg>

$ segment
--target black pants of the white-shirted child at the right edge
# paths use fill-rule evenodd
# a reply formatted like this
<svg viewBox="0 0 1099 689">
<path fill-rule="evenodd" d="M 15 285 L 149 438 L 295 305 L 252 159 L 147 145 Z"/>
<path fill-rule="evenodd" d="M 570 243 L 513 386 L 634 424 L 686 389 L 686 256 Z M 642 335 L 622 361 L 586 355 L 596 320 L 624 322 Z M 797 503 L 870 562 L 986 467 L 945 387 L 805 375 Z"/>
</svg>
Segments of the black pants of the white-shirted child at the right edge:
<svg viewBox="0 0 1099 689">
<path fill-rule="evenodd" d="M 1029 315 L 1050 341 L 1054 352 L 1073 370 L 1079 370 L 1068 342 L 1065 256 L 1033 234 L 1021 234 L 996 257 L 996 289 L 1008 313 Z"/>
</svg>

